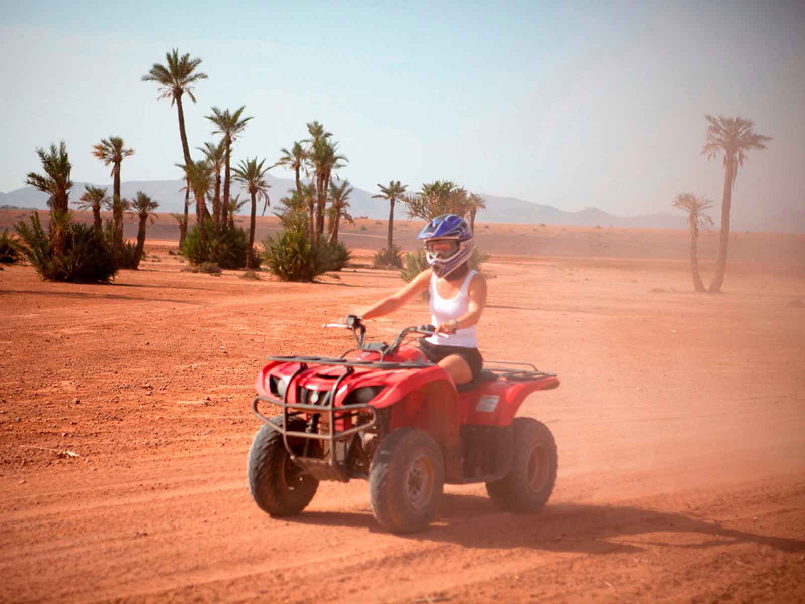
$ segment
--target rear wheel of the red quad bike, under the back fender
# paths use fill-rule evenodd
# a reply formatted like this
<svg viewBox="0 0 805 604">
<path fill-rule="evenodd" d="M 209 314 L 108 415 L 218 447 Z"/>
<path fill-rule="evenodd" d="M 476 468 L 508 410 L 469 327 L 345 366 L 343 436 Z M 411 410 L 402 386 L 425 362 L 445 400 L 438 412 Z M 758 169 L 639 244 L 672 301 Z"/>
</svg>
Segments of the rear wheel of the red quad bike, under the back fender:
<svg viewBox="0 0 805 604">
<path fill-rule="evenodd" d="M 503 511 L 534 514 L 551 497 L 559 468 L 556 442 L 545 424 L 514 418 L 514 461 L 505 478 L 486 483 L 492 502 Z"/>
</svg>

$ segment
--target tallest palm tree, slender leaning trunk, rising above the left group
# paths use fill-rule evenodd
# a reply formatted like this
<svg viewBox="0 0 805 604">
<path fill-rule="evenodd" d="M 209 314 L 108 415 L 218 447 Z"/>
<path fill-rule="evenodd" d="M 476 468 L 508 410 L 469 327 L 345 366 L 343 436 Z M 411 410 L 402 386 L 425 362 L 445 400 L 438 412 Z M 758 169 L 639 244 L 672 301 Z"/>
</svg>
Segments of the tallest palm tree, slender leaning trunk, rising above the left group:
<svg viewBox="0 0 805 604">
<path fill-rule="evenodd" d="M 196 102 L 193 96 L 193 88 L 196 81 L 204 80 L 206 73 L 196 72 L 196 68 L 201 64 L 200 59 L 191 59 L 189 54 L 179 56 L 179 49 L 174 48 L 171 52 L 165 53 L 165 65 L 155 63 L 151 65 L 151 71 L 142 77 L 143 81 L 155 81 L 159 84 L 159 98 L 171 99 L 171 107 L 176 104 L 176 113 L 179 115 L 179 136 L 182 141 L 182 154 L 184 163 L 190 163 L 190 147 L 188 146 L 188 134 L 184 130 L 184 110 L 182 108 L 182 96 L 188 94 L 190 100 Z M 184 189 L 184 225 L 180 223 L 179 245 L 184 243 L 184 236 L 188 230 L 188 199 L 190 187 Z"/>
</svg>

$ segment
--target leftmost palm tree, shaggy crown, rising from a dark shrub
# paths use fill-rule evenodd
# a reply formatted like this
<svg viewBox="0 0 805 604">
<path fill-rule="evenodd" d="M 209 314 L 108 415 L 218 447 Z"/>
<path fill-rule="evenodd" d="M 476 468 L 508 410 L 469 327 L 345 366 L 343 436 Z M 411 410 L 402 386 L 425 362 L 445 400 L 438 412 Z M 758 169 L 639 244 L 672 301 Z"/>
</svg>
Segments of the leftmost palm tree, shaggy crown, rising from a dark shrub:
<svg viewBox="0 0 805 604">
<path fill-rule="evenodd" d="M 47 193 L 47 206 L 51 209 L 51 237 L 54 250 L 61 251 L 64 248 L 64 224 L 68 217 L 68 205 L 70 202 L 70 189 L 72 180 L 70 172 L 72 163 L 67 154 L 67 146 L 64 141 L 59 143 L 59 148 L 51 143 L 48 153 L 42 147 L 36 149 L 39 161 L 42 163 L 44 175 L 37 172 L 28 172 L 25 184 L 38 188 L 39 191 Z"/>
</svg>

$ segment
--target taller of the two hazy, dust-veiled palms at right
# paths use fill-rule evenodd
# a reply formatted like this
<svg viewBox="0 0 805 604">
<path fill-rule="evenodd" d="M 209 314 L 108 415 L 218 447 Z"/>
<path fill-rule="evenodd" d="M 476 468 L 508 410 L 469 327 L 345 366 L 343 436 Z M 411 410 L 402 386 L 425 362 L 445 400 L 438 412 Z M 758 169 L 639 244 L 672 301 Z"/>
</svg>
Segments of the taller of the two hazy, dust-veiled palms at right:
<svg viewBox="0 0 805 604">
<path fill-rule="evenodd" d="M 702 153 L 712 159 L 724 154 L 724 193 L 721 201 L 721 229 L 718 237 L 718 257 L 716 271 L 710 282 L 710 293 L 721 291 L 724 283 L 724 273 L 727 267 L 727 239 L 729 238 L 729 210 L 732 206 L 733 187 L 738 175 L 738 168 L 744 165 L 747 151 L 762 150 L 764 143 L 772 140 L 770 136 L 755 134 L 754 122 L 750 119 L 725 118 L 720 115 L 714 118 L 705 115 L 710 123 L 707 129 L 707 142 L 702 147 Z"/>
</svg>

